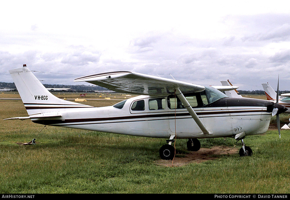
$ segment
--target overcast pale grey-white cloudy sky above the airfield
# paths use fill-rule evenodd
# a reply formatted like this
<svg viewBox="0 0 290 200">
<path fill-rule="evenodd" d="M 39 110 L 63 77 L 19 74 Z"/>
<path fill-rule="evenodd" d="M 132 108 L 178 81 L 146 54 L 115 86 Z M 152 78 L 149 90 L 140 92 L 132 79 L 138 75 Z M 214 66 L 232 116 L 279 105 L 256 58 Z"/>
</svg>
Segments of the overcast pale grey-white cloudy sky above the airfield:
<svg viewBox="0 0 290 200">
<path fill-rule="evenodd" d="M 289 1 L 1 1 L 0 82 L 128 70 L 241 90 L 290 90 Z M 78 83 L 80 84 L 80 83 Z"/>
</svg>

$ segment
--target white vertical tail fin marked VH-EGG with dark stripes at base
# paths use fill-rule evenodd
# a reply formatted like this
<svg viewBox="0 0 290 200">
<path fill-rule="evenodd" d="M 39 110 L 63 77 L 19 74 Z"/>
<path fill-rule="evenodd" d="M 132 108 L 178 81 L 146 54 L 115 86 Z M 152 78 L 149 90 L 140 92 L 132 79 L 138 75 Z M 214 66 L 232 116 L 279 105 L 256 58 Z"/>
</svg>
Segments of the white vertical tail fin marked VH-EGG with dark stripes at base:
<svg viewBox="0 0 290 200">
<path fill-rule="evenodd" d="M 9 70 L 28 115 L 91 107 L 62 100 L 50 93 L 33 73 L 23 65 Z"/>
</svg>

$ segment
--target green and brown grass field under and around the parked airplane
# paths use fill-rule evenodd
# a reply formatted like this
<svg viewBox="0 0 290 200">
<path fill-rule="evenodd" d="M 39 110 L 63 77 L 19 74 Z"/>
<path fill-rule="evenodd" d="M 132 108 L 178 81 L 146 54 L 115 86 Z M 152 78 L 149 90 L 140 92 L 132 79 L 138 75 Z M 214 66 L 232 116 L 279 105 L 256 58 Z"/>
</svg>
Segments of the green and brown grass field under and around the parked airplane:
<svg viewBox="0 0 290 200">
<path fill-rule="evenodd" d="M 9 94 L 6 93 L 8 96 Z M 7 96 L 6 95 L 6 96 Z M 17 98 L 17 94 L 15 98 Z M 0 97 L 4 97 L 2 94 Z M 122 96 L 121 96 L 122 97 Z M 120 97 L 120 100 L 122 100 Z M 61 98 L 68 98 L 62 96 Z M 73 98 L 70 97 L 70 98 Z M 88 100 L 104 106 L 117 100 Z M 164 139 L 61 127 L 30 120 L 21 100 L 0 100 L 0 193 L 289 193 L 290 131 L 246 137 L 253 156 L 217 159 L 182 167 L 155 164 Z M 281 114 L 285 121 L 289 115 Z M 288 122 L 289 123 L 289 122 Z M 281 125 L 284 125 L 281 122 Z M 36 138 L 36 145 L 18 145 Z M 232 138 L 201 139 L 202 147 L 240 149 Z M 179 157 L 189 153 L 177 140 Z"/>
</svg>

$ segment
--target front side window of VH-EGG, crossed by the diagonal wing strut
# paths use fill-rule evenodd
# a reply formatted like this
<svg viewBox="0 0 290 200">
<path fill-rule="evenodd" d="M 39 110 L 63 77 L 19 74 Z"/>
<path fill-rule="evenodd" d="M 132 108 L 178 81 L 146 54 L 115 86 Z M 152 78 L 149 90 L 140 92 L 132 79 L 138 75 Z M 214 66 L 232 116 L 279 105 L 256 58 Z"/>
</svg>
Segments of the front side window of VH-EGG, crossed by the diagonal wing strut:
<svg viewBox="0 0 290 200">
<path fill-rule="evenodd" d="M 197 102 L 197 98 L 196 98 L 195 93 L 186 94 L 185 98 L 189 102 L 191 107 L 197 107 L 198 106 L 198 102 Z M 168 96 L 168 107 L 170 109 L 185 108 L 184 105 L 182 104 L 182 102 L 179 100 L 179 98 L 178 97 L 175 98 L 174 95 Z"/>
</svg>

